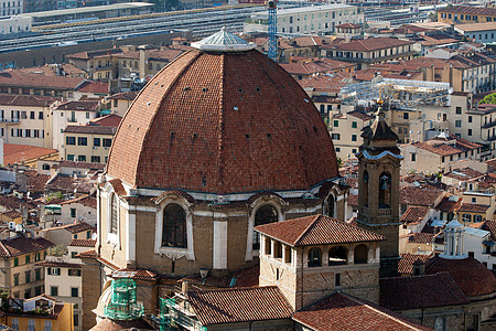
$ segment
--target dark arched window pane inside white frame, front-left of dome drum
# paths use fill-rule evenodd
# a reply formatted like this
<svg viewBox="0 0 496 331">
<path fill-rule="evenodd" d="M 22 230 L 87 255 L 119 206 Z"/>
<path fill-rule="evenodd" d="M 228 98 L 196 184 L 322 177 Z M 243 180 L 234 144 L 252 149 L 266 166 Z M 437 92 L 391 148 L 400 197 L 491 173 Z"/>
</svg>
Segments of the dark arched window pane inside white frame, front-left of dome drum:
<svg viewBox="0 0 496 331">
<path fill-rule="evenodd" d="M 163 210 L 162 246 L 187 248 L 186 213 L 176 203 Z"/>
</svg>

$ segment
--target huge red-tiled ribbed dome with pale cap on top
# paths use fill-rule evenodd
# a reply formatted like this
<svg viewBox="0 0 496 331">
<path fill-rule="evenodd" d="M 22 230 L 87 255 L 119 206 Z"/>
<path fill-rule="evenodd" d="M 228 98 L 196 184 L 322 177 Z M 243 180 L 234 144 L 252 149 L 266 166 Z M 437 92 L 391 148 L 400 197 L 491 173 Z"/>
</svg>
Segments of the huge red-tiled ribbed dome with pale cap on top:
<svg viewBox="0 0 496 331">
<path fill-rule="evenodd" d="M 306 93 L 252 47 L 238 40 L 224 46 L 222 33 L 141 90 L 116 135 L 108 174 L 133 188 L 217 194 L 308 190 L 337 177 L 330 135 Z"/>
</svg>

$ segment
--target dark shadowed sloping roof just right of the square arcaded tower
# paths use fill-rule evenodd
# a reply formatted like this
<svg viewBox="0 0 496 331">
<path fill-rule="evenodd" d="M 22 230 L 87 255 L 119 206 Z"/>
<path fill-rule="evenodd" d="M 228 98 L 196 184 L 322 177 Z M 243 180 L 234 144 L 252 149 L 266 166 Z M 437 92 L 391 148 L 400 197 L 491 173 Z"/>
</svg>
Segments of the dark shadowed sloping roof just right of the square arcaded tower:
<svg viewBox="0 0 496 331">
<path fill-rule="evenodd" d="M 462 289 L 448 273 L 380 278 L 380 306 L 392 309 L 419 309 L 468 303 Z"/>
</svg>

